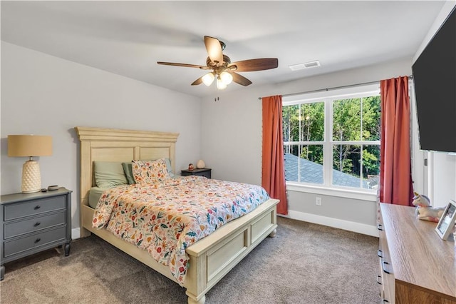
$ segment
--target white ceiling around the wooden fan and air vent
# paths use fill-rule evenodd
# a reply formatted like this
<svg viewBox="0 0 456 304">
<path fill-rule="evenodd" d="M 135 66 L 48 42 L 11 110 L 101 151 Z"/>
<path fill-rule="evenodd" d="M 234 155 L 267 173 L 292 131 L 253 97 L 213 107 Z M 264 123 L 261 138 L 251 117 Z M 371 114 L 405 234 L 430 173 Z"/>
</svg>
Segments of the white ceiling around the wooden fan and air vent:
<svg viewBox="0 0 456 304">
<path fill-rule="evenodd" d="M 274 57 L 279 67 L 239 73 L 250 86 L 409 58 L 445 1 L 1 1 L 1 40 L 193 96 L 203 36 L 232 61 Z M 289 65 L 319 60 L 320 67 Z M 227 91 L 244 87 L 232 83 Z"/>
</svg>

